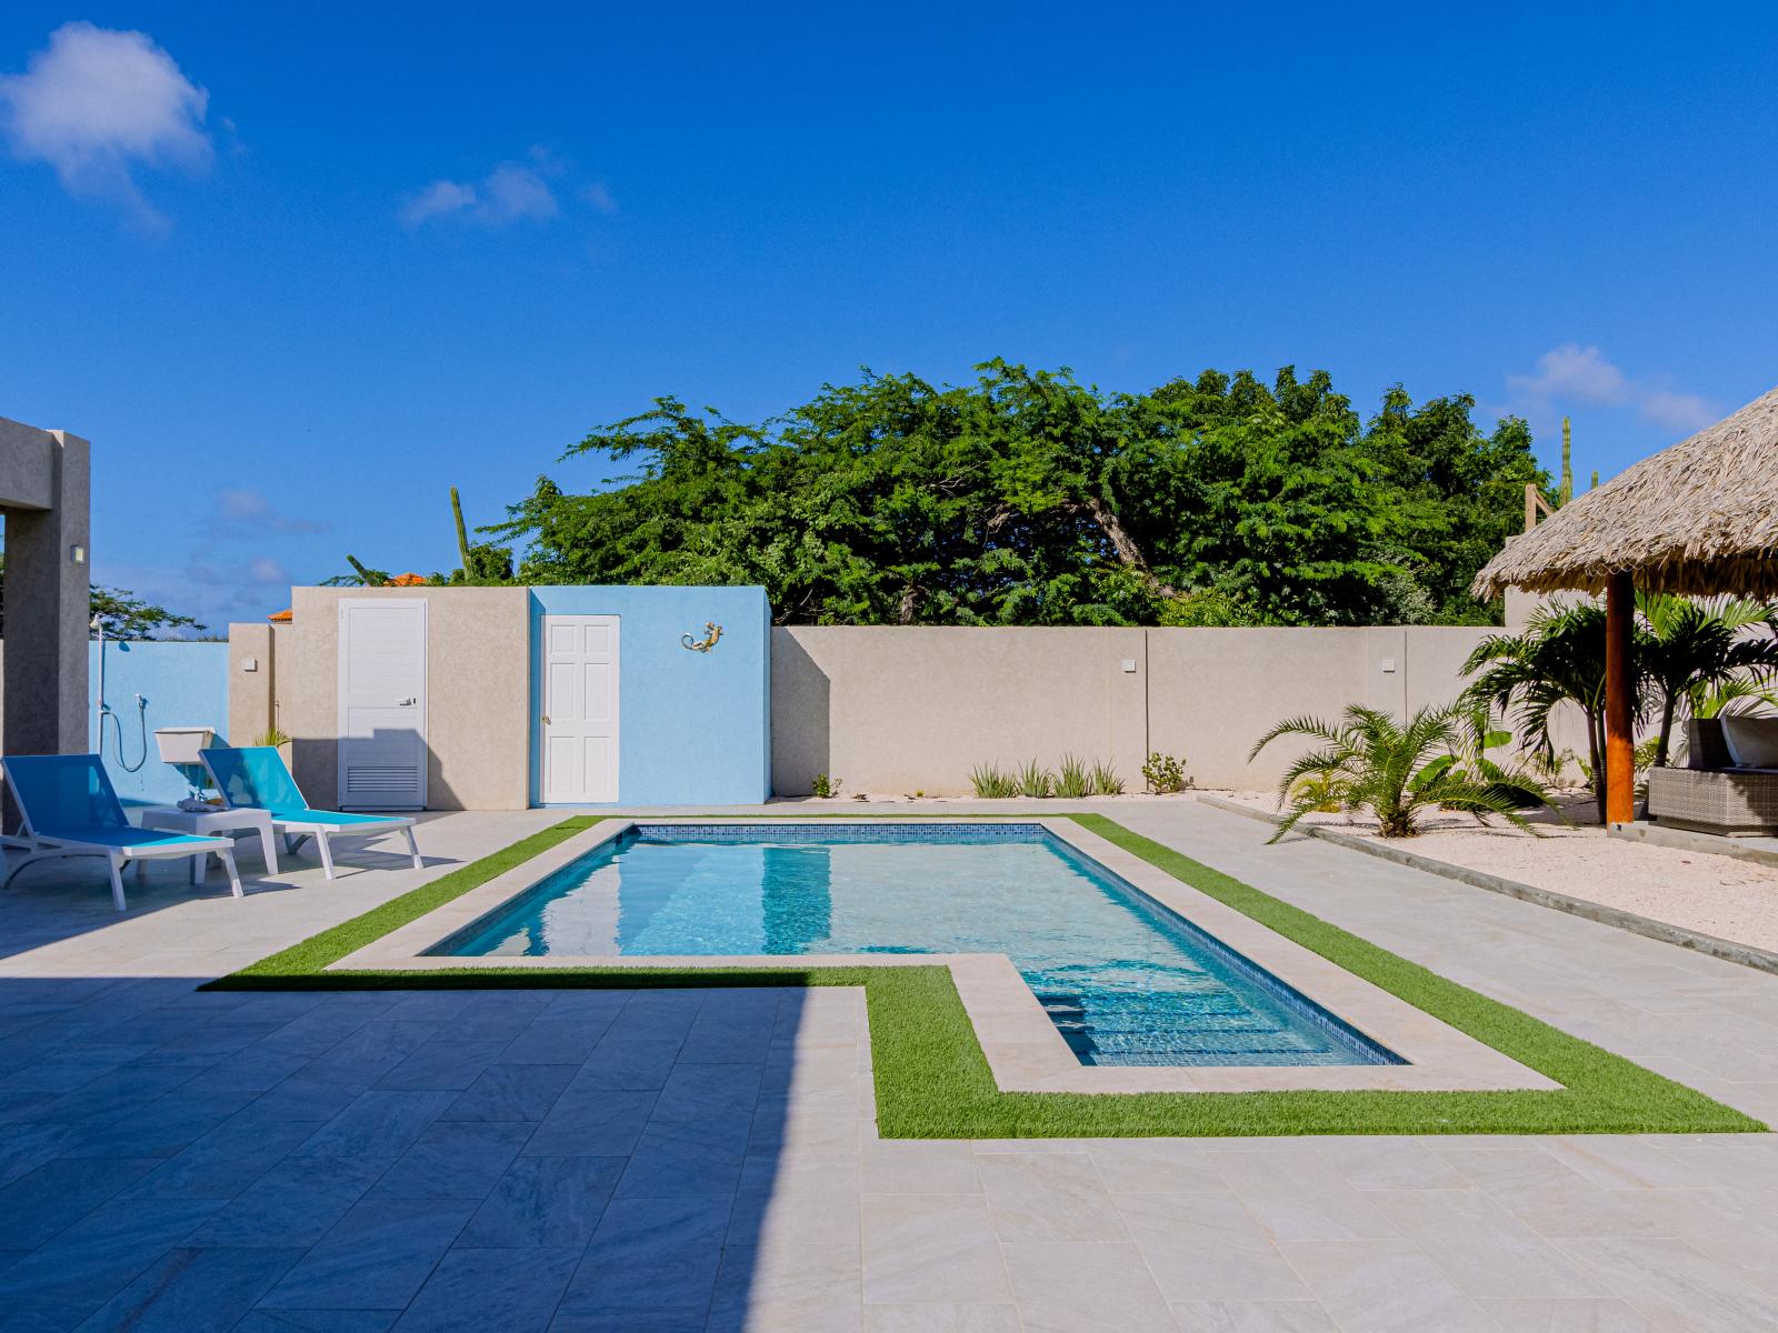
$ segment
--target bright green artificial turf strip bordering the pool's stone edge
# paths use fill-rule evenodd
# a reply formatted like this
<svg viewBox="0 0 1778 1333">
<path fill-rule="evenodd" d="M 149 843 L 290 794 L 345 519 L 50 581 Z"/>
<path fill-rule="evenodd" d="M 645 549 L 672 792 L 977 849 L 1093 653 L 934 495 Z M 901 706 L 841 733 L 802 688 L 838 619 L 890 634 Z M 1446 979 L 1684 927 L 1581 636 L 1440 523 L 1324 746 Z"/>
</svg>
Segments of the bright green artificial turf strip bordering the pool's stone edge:
<svg viewBox="0 0 1778 1333">
<path fill-rule="evenodd" d="M 946 967 L 446 969 L 331 963 L 592 828 L 576 816 L 421 885 L 204 990 L 864 986 L 884 1137 L 1264 1134 L 1723 1134 L 1766 1125 L 1693 1088 L 1479 995 L 1102 814 L 1065 814 L 1175 880 L 1563 1084 L 1556 1091 L 1003 1093 Z M 727 816 L 724 816 L 727 818 Z M 841 816 L 825 816 L 841 818 Z M 848 816 L 859 818 L 859 816 Z M 937 816 L 958 818 L 958 816 Z M 1026 818 L 1026 816 L 1013 816 Z"/>
</svg>

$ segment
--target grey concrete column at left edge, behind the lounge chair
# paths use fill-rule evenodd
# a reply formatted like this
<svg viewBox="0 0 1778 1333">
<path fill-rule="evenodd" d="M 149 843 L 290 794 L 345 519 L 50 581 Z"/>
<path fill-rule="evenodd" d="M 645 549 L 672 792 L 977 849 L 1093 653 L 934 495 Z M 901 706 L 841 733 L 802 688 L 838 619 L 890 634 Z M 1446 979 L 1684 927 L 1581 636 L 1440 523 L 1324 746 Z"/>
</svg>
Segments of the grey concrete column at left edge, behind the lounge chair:
<svg viewBox="0 0 1778 1333">
<path fill-rule="evenodd" d="M 84 754 L 91 446 L 64 430 L 34 434 L 46 437 L 50 503 L 18 507 L 7 503 L 16 496 L 0 498 L 7 503 L 5 748 L 7 754 Z M 11 446 L 11 435 L 5 443 Z"/>
</svg>

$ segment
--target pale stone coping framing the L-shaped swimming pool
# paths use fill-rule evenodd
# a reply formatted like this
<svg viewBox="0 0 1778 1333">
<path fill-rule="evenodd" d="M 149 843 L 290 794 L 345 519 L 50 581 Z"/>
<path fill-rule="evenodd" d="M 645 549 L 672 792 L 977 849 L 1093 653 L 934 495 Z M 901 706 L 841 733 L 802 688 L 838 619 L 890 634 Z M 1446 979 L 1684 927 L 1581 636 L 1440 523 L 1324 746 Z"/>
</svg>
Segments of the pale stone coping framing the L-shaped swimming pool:
<svg viewBox="0 0 1778 1333">
<path fill-rule="evenodd" d="M 610 956 L 549 954 L 541 958 L 428 956 L 427 949 L 498 908 L 539 880 L 622 837 L 637 825 L 734 825 L 761 828 L 807 825 L 807 818 L 610 818 L 526 860 L 416 921 L 398 926 L 327 970 L 464 970 L 475 967 L 537 969 L 781 969 L 781 954 Z M 907 826 L 905 819 L 861 816 L 845 823 Z M 946 826 L 997 825 L 1006 819 L 946 819 Z M 1252 1091 L 1506 1091 L 1556 1090 L 1561 1084 L 1520 1065 L 1449 1024 L 1433 1018 L 1387 990 L 1364 981 L 1317 953 L 1287 940 L 1252 917 L 1179 882 L 1147 860 L 1124 851 L 1072 819 L 1029 818 L 1053 837 L 1104 866 L 1140 892 L 1177 912 L 1230 949 L 1245 954 L 1307 999 L 1337 1015 L 1373 1042 L 1394 1050 L 1405 1065 L 1312 1066 L 1152 1066 L 1081 1065 L 1061 1033 L 1044 1013 L 1031 988 L 1006 954 L 797 954 L 798 967 L 933 967 L 951 970 L 958 997 L 981 1043 L 1001 1091 L 1067 1093 L 1252 1093 Z"/>
</svg>

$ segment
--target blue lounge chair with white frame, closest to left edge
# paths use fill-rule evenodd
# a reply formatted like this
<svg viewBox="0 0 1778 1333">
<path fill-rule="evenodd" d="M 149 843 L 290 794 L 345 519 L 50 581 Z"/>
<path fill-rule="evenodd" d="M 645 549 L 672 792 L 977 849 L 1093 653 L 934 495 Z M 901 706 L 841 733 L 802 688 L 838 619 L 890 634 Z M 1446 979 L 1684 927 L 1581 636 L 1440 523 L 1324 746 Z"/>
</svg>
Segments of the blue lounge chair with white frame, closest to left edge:
<svg viewBox="0 0 1778 1333">
<path fill-rule="evenodd" d="M 229 890 L 242 896 L 235 871 L 235 844 L 226 837 L 190 837 L 135 828 L 124 818 L 117 793 L 96 754 L 11 755 L 0 759 L 7 786 L 23 818 L 25 858 L 5 883 L 34 860 L 105 857 L 112 873 L 112 903 L 123 912 L 123 866 L 155 857 L 204 857 L 215 851 L 228 869 Z"/>
</svg>

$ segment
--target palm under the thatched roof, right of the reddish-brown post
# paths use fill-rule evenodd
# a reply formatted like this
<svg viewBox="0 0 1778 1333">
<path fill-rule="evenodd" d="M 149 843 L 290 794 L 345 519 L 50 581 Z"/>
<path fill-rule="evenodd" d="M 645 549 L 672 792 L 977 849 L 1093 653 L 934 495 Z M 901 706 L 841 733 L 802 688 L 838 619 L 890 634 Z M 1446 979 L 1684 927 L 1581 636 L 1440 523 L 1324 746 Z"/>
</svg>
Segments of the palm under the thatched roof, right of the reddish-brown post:
<svg viewBox="0 0 1778 1333">
<path fill-rule="evenodd" d="M 1654 762 L 1664 766 L 1680 706 L 1703 716 L 1700 707 L 1712 695 L 1757 693 L 1778 674 L 1778 613 L 1744 597 L 1664 592 L 1638 594 L 1636 610 L 1648 627 L 1639 643 L 1641 675 L 1661 711 Z"/>
</svg>

